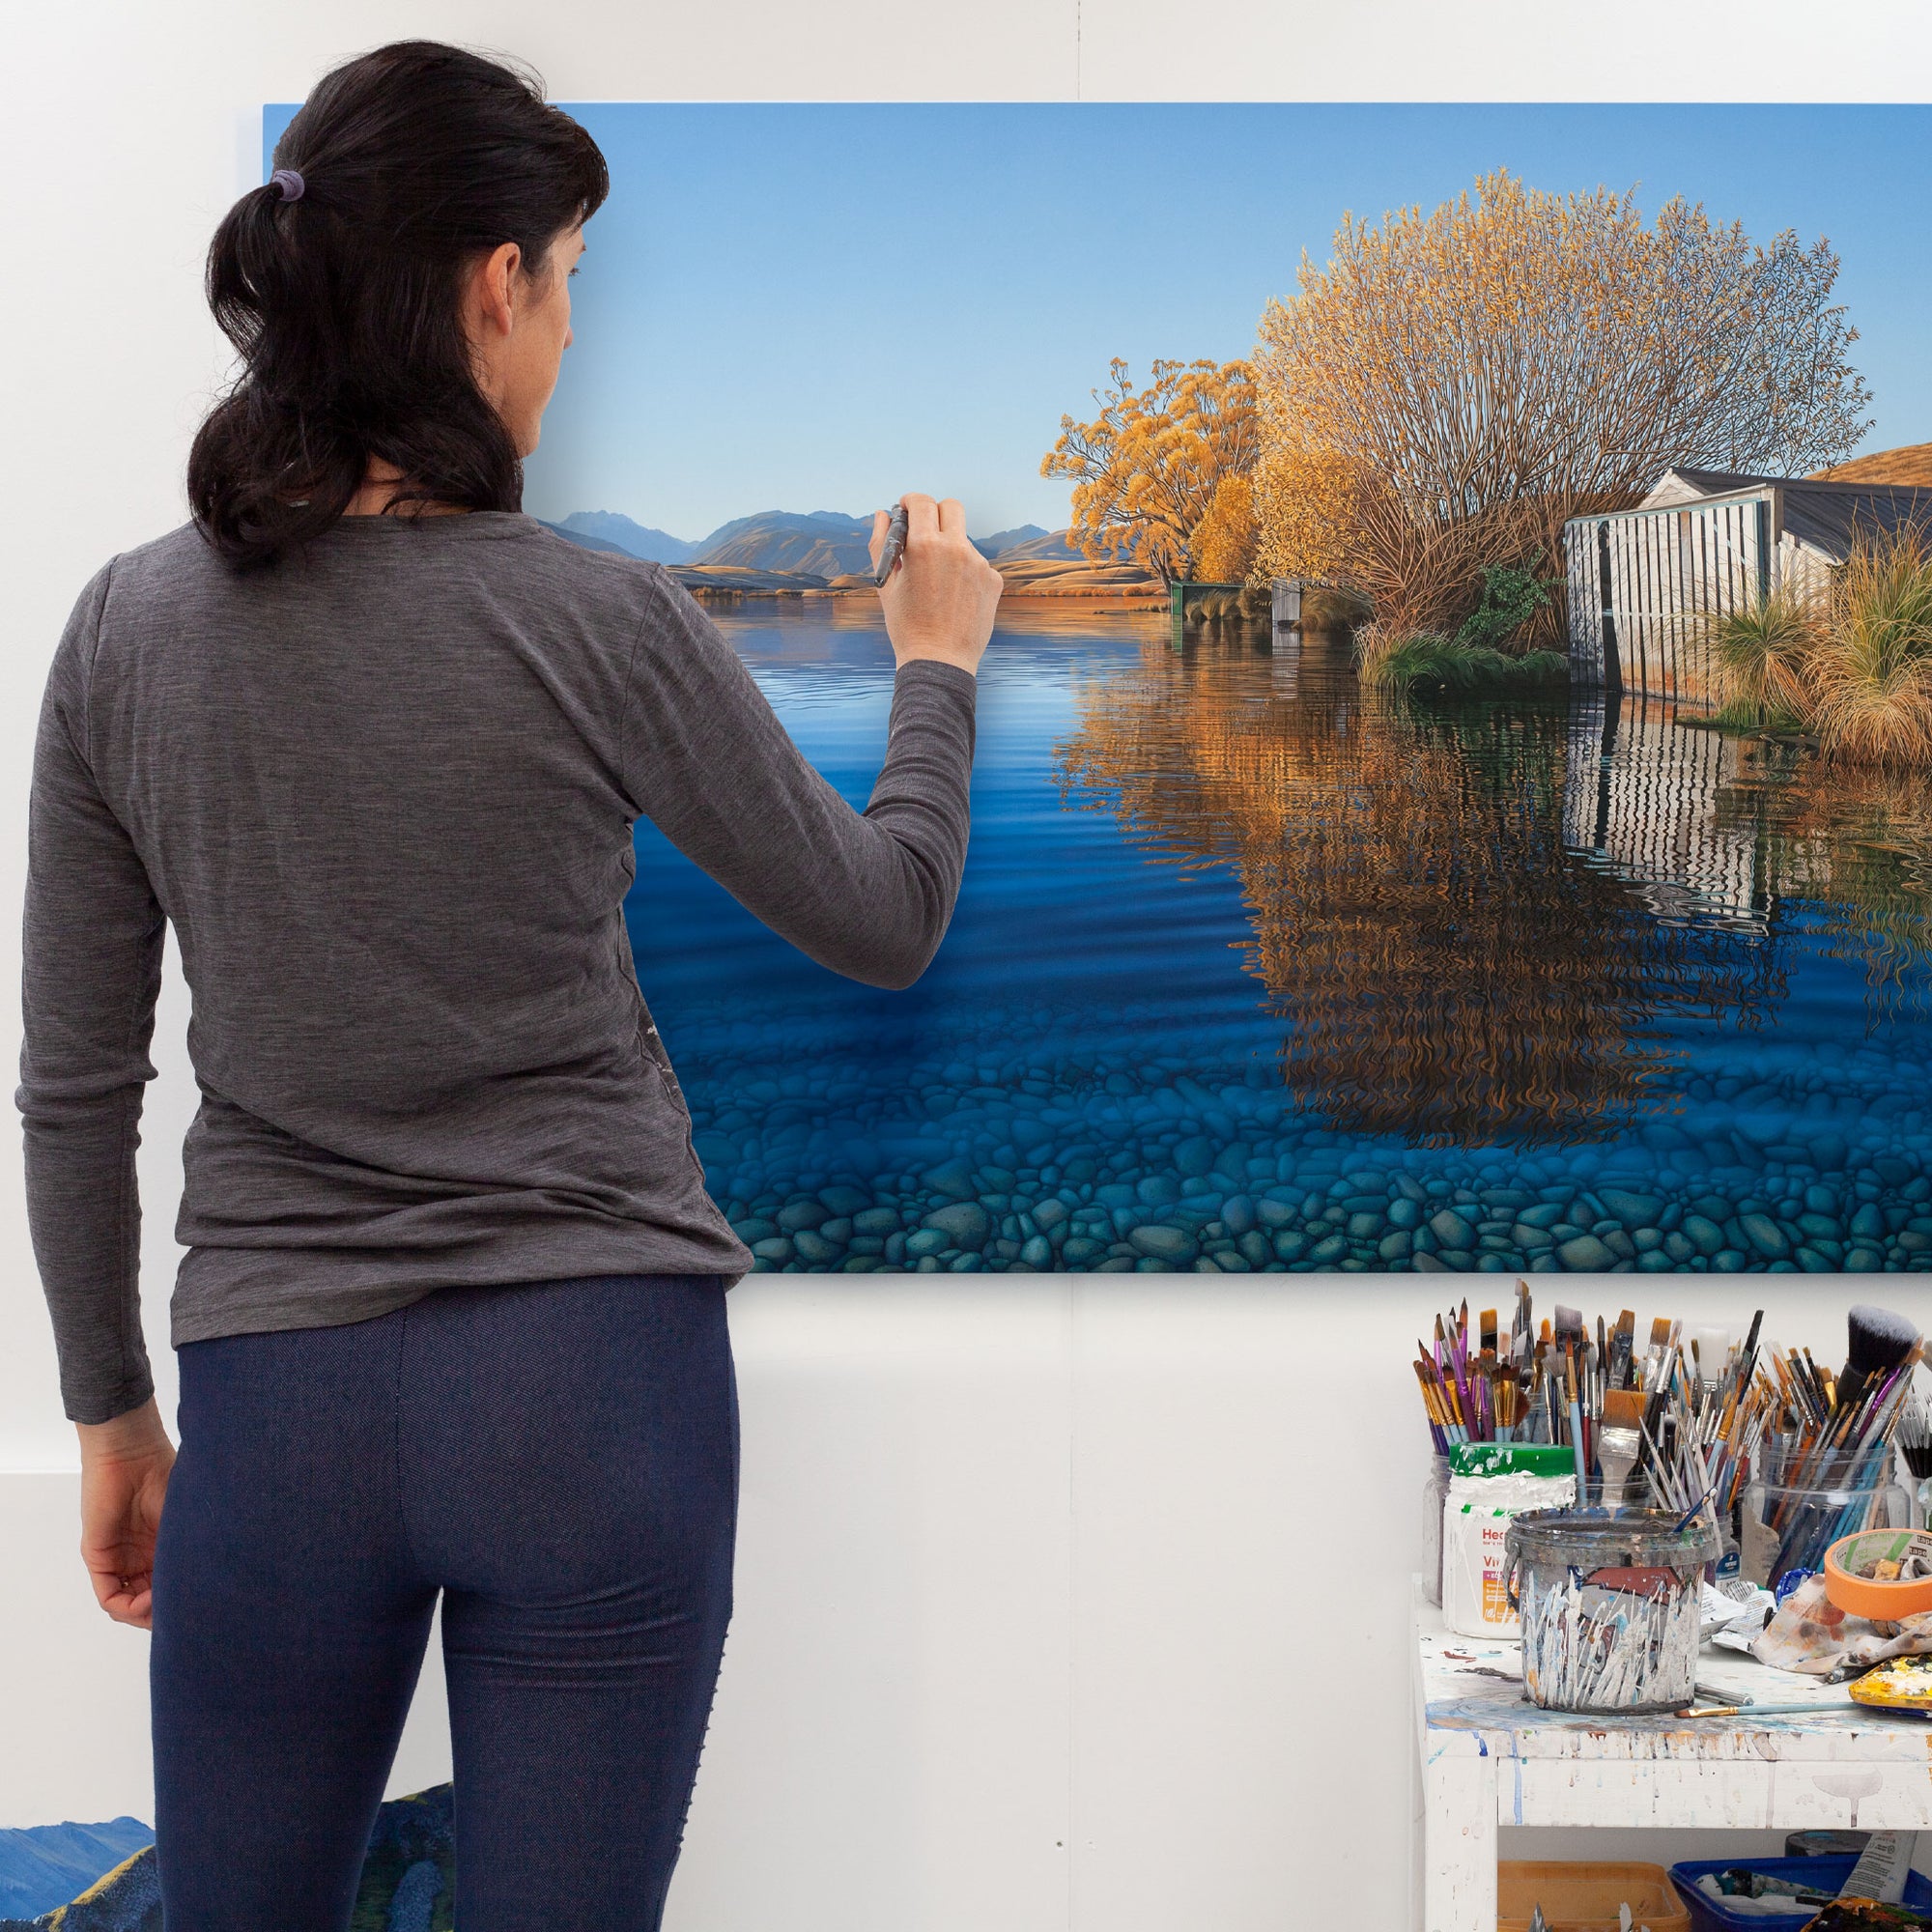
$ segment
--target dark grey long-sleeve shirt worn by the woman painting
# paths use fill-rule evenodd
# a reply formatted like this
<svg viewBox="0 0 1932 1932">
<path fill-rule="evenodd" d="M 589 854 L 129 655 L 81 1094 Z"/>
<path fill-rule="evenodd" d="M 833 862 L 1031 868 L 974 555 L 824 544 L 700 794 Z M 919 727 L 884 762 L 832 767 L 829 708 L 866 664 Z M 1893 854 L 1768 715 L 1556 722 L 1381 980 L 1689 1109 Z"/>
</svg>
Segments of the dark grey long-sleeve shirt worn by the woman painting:
<svg viewBox="0 0 1932 1932">
<path fill-rule="evenodd" d="M 510 512 L 348 518 L 83 591 L 35 750 L 27 1211 L 62 1395 L 151 1393 L 135 1144 L 174 923 L 201 1107 L 176 1347 L 450 1283 L 719 1273 L 622 900 L 643 815 L 835 972 L 906 985 L 966 860 L 974 676 L 902 665 L 854 811 L 657 564 Z"/>
</svg>

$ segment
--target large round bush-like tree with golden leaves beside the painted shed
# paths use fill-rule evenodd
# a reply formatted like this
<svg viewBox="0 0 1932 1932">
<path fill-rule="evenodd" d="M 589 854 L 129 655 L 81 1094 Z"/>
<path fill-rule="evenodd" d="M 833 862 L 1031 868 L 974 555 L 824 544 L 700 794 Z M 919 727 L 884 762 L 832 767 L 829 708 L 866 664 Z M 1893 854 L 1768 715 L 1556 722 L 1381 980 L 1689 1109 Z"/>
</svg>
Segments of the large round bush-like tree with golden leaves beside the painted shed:
<svg viewBox="0 0 1932 1932">
<path fill-rule="evenodd" d="M 1870 402 L 1837 267 L 1824 240 L 1758 245 L 1681 197 L 1646 222 L 1629 195 L 1507 170 L 1430 214 L 1345 216 L 1327 267 L 1304 257 L 1262 317 L 1262 568 L 1329 574 L 1320 556 L 1378 618 L 1418 622 L 1486 562 L 1553 568 L 1567 518 L 1671 466 L 1832 462 Z M 1312 516 L 1310 475 L 1329 489 Z"/>
</svg>

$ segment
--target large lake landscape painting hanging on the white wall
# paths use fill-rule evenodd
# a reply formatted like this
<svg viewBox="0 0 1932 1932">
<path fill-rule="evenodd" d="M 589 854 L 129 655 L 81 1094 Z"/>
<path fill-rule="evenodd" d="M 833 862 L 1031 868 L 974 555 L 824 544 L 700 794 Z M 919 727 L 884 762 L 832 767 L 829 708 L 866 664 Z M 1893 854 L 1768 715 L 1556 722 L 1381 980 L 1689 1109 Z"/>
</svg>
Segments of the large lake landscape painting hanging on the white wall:
<svg viewBox="0 0 1932 1932">
<path fill-rule="evenodd" d="M 1926 1265 L 1924 112 L 578 112 L 527 508 L 858 804 L 871 510 L 1007 578 L 916 987 L 638 827 L 759 1269 Z"/>
</svg>

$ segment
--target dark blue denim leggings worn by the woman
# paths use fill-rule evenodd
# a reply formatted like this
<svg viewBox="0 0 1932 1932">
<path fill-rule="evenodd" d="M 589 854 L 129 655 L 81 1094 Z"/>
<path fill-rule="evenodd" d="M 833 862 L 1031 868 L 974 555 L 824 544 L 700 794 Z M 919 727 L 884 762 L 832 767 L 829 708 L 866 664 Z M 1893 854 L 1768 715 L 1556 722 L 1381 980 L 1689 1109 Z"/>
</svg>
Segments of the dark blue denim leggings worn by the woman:
<svg viewBox="0 0 1932 1932">
<path fill-rule="evenodd" d="M 719 1277 L 439 1289 L 180 1362 L 168 1932 L 344 1932 L 439 1592 L 456 1924 L 655 1928 L 730 1617 Z"/>
</svg>

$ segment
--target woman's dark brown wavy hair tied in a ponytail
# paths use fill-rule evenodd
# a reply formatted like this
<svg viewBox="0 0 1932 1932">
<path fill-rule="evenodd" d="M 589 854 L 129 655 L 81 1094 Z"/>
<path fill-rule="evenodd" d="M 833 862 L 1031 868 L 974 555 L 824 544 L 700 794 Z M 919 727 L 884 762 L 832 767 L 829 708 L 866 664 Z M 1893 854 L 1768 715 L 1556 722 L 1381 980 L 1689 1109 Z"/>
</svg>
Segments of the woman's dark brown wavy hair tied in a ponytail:
<svg viewBox="0 0 1932 1932">
<path fill-rule="evenodd" d="M 325 75 L 276 143 L 298 199 L 251 187 L 209 245 L 209 307 L 242 354 L 187 458 L 187 502 L 238 566 L 328 529 L 371 458 L 398 502 L 516 510 L 524 469 L 477 388 L 466 270 L 551 243 L 611 191 L 597 143 L 520 68 L 396 41 Z"/>
</svg>

